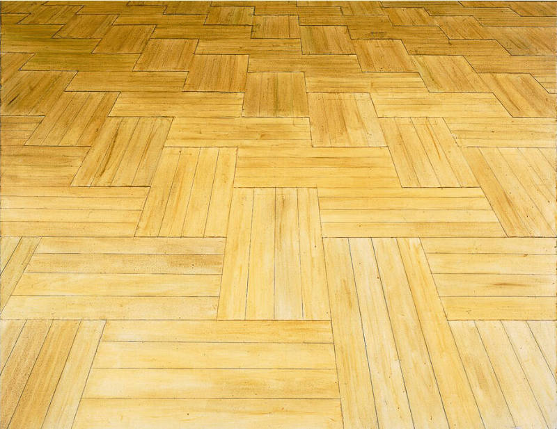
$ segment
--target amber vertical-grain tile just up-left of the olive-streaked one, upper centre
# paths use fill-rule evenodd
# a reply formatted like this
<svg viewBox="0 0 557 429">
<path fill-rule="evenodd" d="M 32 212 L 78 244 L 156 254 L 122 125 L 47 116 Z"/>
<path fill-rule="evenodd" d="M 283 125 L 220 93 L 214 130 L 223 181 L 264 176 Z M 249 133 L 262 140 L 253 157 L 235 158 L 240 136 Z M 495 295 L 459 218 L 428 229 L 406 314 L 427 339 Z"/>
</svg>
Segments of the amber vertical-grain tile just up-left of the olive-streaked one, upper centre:
<svg viewBox="0 0 557 429">
<path fill-rule="evenodd" d="M 247 55 L 194 55 L 184 90 L 243 92 L 248 59 Z"/>
</svg>

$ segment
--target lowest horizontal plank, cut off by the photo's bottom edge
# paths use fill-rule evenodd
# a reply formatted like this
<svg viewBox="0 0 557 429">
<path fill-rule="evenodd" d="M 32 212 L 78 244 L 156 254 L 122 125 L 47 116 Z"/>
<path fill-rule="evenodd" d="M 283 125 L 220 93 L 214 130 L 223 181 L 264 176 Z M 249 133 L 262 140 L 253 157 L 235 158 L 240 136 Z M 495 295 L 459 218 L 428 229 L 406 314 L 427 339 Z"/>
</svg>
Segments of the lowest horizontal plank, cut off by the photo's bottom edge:
<svg viewBox="0 0 557 429">
<path fill-rule="evenodd" d="M 195 429 L 200 425 L 256 429 L 272 426 L 277 419 L 285 429 L 300 425 L 327 429 L 343 427 L 338 399 L 84 398 L 74 428 L 132 429 L 143 425 L 154 429 L 163 424 L 181 425 L 183 429 Z"/>
</svg>

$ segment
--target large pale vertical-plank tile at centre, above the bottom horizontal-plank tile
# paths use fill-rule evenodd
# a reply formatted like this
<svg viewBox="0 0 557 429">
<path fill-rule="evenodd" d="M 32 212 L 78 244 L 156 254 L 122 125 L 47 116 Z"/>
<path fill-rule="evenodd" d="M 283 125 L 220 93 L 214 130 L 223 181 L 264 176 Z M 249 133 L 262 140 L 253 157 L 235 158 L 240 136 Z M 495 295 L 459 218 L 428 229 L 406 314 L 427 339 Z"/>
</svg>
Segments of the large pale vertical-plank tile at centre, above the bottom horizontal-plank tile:
<svg viewBox="0 0 557 429">
<path fill-rule="evenodd" d="M 224 263 L 219 318 L 329 318 L 315 190 L 235 189 L 233 207 L 248 198 L 251 205 L 242 207 L 247 223 L 230 223 L 227 247 L 235 252 L 225 252 L 235 256 Z M 238 273 L 239 263 L 245 273 Z"/>
</svg>

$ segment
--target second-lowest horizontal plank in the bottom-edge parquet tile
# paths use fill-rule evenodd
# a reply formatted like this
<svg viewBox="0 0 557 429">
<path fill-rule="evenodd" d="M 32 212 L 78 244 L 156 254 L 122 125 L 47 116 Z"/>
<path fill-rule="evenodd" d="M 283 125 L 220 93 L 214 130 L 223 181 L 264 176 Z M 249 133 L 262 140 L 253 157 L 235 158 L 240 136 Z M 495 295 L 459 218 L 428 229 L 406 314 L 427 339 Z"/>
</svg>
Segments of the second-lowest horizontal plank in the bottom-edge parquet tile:
<svg viewBox="0 0 557 429">
<path fill-rule="evenodd" d="M 117 385 L 113 382 L 115 379 L 119 380 Z M 83 394 L 84 398 L 249 399 L 258 396 L 292 399 L 338 398 L 336 371 L 93 368 Z"/>
</svg>

